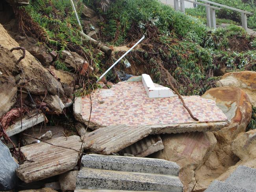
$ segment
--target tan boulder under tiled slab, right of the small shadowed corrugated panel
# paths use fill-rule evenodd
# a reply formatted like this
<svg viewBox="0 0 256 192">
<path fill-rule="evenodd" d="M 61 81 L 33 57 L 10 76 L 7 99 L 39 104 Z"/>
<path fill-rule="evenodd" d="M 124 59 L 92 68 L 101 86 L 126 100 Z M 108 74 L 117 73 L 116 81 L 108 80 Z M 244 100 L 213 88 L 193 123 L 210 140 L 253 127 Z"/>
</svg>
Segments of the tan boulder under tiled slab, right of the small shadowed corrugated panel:
<svg viewBox="0 0 256 192">
<path fill-rule="evenodd" d="M 180 165 L 180 180 L 184 192 L 190 192 L 195 186 L 195 170 L 208 159 L 216 139 L 211 132 L 180 133 L 161 136 L 164 149 L 154 158 L 174 161 Z"/>
</svg>

